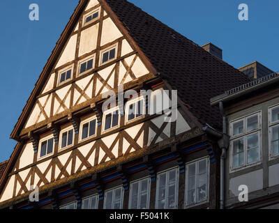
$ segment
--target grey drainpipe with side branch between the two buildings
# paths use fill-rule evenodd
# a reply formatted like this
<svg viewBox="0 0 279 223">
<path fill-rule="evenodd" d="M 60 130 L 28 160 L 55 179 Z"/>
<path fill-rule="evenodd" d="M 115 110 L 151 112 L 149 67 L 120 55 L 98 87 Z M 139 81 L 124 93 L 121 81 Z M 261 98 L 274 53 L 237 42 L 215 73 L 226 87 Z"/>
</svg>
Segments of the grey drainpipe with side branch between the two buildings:
<svg viewBox="0 0 279 223">
<path fill-rule="evenodd" d="M 227 149 L 229 148 L 229 135 L 227 134 L 227 118 L 223 109 L 223 102 L 219 102 L 220 113 L 223 116 L 223 132 L 206 126 L 202 128 L 207 134 L 218 139 L 218 146 L 221 151 L 220 155 L 220 209 L 225 208 L 225 160 L 227 157 Z"/>
</svg>

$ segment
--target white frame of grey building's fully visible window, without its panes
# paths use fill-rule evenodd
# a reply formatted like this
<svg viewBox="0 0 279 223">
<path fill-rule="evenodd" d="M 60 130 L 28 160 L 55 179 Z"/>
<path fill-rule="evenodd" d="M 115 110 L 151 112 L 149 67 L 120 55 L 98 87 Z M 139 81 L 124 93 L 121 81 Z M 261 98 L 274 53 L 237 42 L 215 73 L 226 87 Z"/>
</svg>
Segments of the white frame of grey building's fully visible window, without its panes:
<svg viewBox="0 0 279 223">
<path fill-rule="evenodd" d="M 247 129 L 247 119 L 252 116 L 258 116 L 258 128 L 255 130 L 250 130 L 246 132 Z M 243 133 L 233 135 L 233 124 L 239 121 L 243 121 Z M 259 160 L 255 162 L 247 162 L 247 137 L 252 134 L 258 133 L 258 144 L 259 144 Z M 255 166 L 257 164 L 262 163 L 262 111 L 253 112 L 252 114 L 248 114 L 246 116 L 242 116 L 241 118 L 236 118 L 229 122 L 229 172 L 232 173 L 234 171 L 239 171 L 241 169 L 246 169 L 248 167 Z M 243 138 L 243 166 L 233 167 L 233 142 Z"/>
</svg>

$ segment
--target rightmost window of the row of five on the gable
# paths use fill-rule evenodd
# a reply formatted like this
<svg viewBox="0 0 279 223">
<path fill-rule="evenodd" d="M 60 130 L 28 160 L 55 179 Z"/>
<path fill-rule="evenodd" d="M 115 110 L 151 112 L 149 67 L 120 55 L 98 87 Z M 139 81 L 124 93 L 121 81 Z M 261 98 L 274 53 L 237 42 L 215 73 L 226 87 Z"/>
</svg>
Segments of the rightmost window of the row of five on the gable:
<svg viewBox="0 0 279 223">
<path fill-rule="evenodd" d="M 144 98 L 127 102 L 127 107 L 126 107 L 127 121 L 132 121 L 135 118 L 139 118 L 140 116 L 143 116 L 145 114 L 144 105 L 145 105 Z"/>
</svg>

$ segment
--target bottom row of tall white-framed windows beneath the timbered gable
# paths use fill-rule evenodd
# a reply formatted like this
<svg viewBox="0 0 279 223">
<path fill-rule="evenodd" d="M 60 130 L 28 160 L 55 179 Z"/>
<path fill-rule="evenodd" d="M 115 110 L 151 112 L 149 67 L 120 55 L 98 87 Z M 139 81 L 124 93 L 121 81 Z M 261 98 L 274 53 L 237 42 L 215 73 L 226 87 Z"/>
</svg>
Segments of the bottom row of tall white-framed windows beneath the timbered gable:
<svg viewBox="0 0 279 223">
<path fill-rule="evenodd" d="M 156 209 L 178 208 L 179 168 L 163 171 L 157 176 Z M 130 183 L 129 209 L 149 209 L 151 192 L 150 178 Z M 122 186 L 105 191 L 104 209 L 123 208 Z M 185 208 L 208 202 L 209 160 L 203 158 L 186 164 Z M 61 209 L 75 209 L 76 202 L 61 206 Z M 97 209 L 98 194 L 82 199 L 82 209 Z"/>
</svg>

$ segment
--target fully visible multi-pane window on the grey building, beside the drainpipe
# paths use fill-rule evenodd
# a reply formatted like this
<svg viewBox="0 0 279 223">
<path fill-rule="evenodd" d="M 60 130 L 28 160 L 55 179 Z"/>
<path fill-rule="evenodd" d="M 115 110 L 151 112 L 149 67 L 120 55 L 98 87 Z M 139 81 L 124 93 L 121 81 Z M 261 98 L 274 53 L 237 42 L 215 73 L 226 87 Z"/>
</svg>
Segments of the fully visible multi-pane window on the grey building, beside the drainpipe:
<svg viewBox="0 0 279 223">
<path fill-rule="evenodd" d="M 246 167 L 260 161 L 261 114 L 252 114 L 232 121 L 231 132 L 231 169 Z"/>
</svg>

